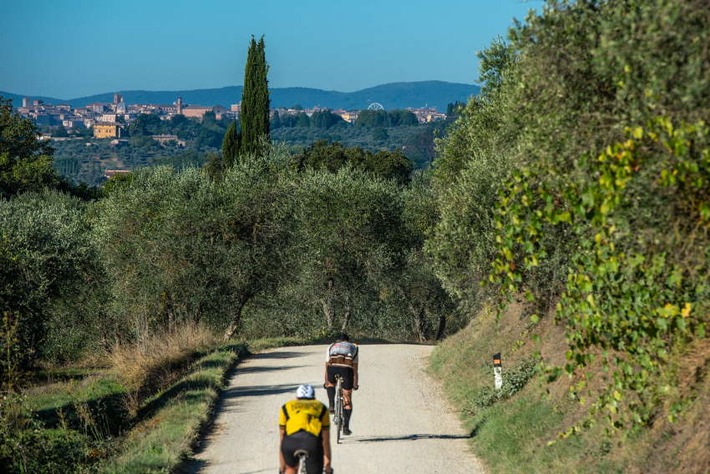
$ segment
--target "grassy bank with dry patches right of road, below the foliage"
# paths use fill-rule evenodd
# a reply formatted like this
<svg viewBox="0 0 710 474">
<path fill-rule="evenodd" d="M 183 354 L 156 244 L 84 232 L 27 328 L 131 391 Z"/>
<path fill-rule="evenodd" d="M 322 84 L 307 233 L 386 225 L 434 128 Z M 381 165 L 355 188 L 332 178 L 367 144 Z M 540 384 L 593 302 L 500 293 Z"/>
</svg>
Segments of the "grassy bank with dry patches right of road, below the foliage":
<svg viewBox="0 0 710 474">
<path fill-rule="evenodd" d="M 492 473 L 707 473 L 710 472 L 710 350 L 706 340 L 679 360 L 693 361 L 682 408 L 670 405 L 652 426 L 608 436 L 605 422 L 562 437 L 580 424 L 588 406 L 569 398 L 566 377 L 549 381 L 531 360 L 561 365 L 562 328 L 552 317 L 531 324 L 513 305 L 496 318 L 482 311 L 459 333 L 438 345 L 431 371 L 472 433 L 471 447 Z M 501 353 L 504 385 L 494 388 L 493 354 Z M 530 370 L 532 368 L 532 371 Z M 603 383 L 602 373 L 588 380 Z M 683 379 L 683 378 L 681 378 Z M 677 421 L 670 423 L 670 410 Z M 705 448 L 701 448 L 705 446 Z"/>
</svg>

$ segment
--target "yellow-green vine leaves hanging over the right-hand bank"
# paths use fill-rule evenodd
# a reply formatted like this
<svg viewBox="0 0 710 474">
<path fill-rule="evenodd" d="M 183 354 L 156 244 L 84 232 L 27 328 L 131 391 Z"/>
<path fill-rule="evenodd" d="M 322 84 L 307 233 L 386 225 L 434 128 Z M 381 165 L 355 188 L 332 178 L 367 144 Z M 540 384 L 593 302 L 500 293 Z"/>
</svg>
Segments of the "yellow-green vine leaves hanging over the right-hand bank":
<svg viewBox="0 0 710 474">
<path fill-rule="evenodd" d="M 602 350 L 612 380 L 595 410 L 607 411 L 612 426 L 648 423 L 673 386 L 665 369 L 671 354 L 705 337 L 710 262 L 699 230 L 710 227 L 709 136 L 702 124 L 676 128 L 661 119 L 630 130 L 627 141 L 595 160 L 580 160 L 580 176 L 596 181 L 558 183 L 527 173 L 503 198 L 506 233 L 495 274 L 511 291 L 524 288 L 545 259 L 543 235 L 563 228 L 575 242 L 557 305 L 570 344 L 567 370 L 585 367 Z M 659 196 L 670 212 L 656 207 L 645 222 L 638 209 Z"/>
</svg>

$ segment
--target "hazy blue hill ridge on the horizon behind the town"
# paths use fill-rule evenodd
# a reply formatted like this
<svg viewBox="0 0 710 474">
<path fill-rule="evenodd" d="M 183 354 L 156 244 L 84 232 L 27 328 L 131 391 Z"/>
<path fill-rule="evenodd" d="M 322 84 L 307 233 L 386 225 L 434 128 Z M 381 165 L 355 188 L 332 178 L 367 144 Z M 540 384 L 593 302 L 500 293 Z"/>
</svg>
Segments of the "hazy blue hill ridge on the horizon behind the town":
<svg viewBox="0 0 710 474">
<path fill-rule="evenodd" d="M 371 103 L 378 102 L 385 109 L 404 109 L 407 107 L 435 107 L 440 112 L 452 102 L 467 102 L 480 88 L 473 84 L 459 84 L 444 81 L 395 82 L 370 87 L 355 92 L 325 91 L 306 87 L 273 88 L 270 90 L 271 106 L 291 107 L 301 105 L 304 108 L 320 106 L 330 109 L 361 110 Z M 229 107 L 239 102 L 242 86 L 222 87 L 220 89 L 198 89 L 191 91 L 116 91 L 123 95 L 127 104 L 172 104 L 182 97 L 185 104 L 222 105 Z M 58 99 L 53 97 L 22 96 L 0 91 L 0 95 L 12 100 L 15 107 L 22 105 L 22 98 L 42 100 L 48 104 L 69 104 L 74 108 L 84 107 L 93 102 L 112 102 L 113 92 L 79 97 L 76 99 Z"/>
</svg>

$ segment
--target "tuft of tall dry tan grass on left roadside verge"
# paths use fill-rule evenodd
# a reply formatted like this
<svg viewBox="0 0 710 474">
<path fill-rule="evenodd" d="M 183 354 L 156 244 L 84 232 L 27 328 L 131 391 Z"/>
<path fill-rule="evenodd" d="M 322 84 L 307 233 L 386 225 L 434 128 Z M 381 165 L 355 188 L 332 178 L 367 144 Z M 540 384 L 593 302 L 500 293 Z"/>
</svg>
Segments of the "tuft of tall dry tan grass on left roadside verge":
<svg viewBox="0 0 710 474">
<path fill-rule="evenodd" d="M 221 338 L 209 329 L 189 324 L 150 336 L 138 344 L 116 344 L 109 353 L 112 371 L 129 392 L 128 409 L 135 413 L 142 400 L 182 376 L 196 354 L 216 347 Z"/>
</svg>

